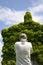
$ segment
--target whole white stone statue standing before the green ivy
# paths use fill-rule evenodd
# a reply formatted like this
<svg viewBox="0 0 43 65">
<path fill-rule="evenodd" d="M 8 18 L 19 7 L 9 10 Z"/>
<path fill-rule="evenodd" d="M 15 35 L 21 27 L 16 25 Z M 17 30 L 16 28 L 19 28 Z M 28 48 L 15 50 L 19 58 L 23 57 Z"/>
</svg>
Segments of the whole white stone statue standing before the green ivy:
<svg viewBox="0 0 43 65">
<path fill-rule="evenodd" d="M 27 41 L 27 35 L 25 33 L 20 34 L 20 41 L 16 42 L 16 65 L 32 65 L 30 53 L 32 51 L 31 42 Z"/>
</svg>

